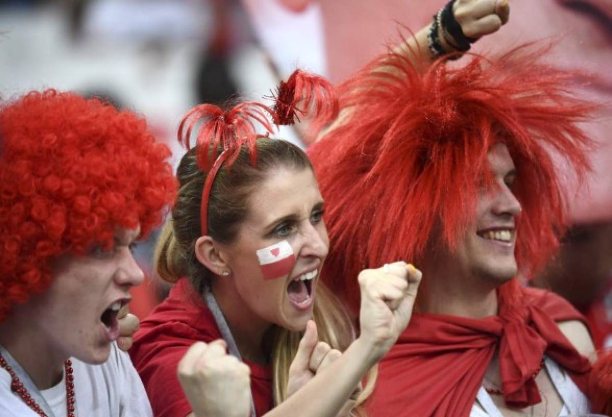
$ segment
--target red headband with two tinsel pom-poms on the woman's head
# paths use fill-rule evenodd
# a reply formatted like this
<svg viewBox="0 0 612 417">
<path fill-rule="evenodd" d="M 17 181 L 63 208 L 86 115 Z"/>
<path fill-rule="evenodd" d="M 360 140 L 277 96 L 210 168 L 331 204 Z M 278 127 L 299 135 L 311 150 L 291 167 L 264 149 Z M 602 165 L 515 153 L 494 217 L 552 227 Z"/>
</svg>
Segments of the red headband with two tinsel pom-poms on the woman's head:
<svg viewBox="0 0 612 417">
<path fill-rule="evenodd" d="M 281 81 L 274 98 L 274 109 L 254 101 L 241 103 L 228 111 L 203 104 L 188 111 L 181 120 L 177 136 L 187 150 L 193 128 L 198 122 L 202 123 L 195 146 L 198 166 L 207 173 L 200 208 L 203 235 L 208 234 L 208 200 L 212 183 L 223 163 L 229 169 L 242 147 L 246 146 L 255 165 L 257 139 L 272 133 L 273 125 L 293 124 L 296 112 L 313 114 L 313 124 L 317 128 L 338 113 L 338 103 L 326 79 L 301 70 L 296 70 L 286 83 Z M 265 133 L 258 133 L 258 125 Z"/>
</svg>

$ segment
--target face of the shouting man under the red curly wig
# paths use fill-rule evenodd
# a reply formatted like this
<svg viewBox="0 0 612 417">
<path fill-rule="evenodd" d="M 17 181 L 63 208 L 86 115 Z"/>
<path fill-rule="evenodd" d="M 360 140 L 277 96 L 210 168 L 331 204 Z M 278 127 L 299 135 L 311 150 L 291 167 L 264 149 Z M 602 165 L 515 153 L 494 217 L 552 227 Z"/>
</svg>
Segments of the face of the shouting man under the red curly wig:
<svg viewBox="0 0 612 417">
<path fill-rule="evenodd" d="M 54 262 L 53 283 L 32 298 L 29 314 L 58 355 L 92 364 L 108 359 L 111 339 L 118 336 L 116 314 L 106 312 L 111 329 L 101 318 L 112 304 L 127 303 L 130 289 L 144 279 L 130 250 L 139 234 L 119 230 L 110 251 L 94 249 L 86 256 L 67 255 Z"/>
</svg>

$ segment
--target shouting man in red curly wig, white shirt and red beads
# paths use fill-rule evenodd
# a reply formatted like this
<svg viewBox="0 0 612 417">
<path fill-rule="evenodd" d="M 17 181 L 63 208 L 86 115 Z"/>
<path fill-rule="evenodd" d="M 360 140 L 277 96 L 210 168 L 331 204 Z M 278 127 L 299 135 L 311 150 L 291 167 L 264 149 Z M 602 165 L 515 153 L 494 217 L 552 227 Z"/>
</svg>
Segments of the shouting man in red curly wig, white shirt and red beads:
<svg viewBox="0 0 612 417">
<path fill-rule="evenodd" d="M 56 90 L 2 103 L 0 144 L 0 415 L 152 415 L 115 341 L 143 281 L 132 245 L 173 201 L 170 150 Z"/>
</svg>

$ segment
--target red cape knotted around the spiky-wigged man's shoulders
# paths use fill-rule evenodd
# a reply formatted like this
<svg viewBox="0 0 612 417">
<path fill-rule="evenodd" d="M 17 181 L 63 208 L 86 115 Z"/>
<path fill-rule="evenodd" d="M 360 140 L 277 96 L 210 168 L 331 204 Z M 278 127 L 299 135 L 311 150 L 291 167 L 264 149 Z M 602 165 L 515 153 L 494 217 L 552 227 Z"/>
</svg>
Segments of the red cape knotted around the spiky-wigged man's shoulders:
<svg viewBox="0 0 612 417">
<path fill-rule="evenodd" d="M 500 301 L 499 316 L 485 319 L 414 314 L 381 361 L 372 413 L 468 417 L 498 346 L 507 404 L 523 408 L 540 402 L 531 375 L 544 355 L 586 393 L 591 364 L 555 323 L 565 320 L 583 317 L 558 295 L 536 289 L 524 289 L 521 309 Z"/>
</svg>

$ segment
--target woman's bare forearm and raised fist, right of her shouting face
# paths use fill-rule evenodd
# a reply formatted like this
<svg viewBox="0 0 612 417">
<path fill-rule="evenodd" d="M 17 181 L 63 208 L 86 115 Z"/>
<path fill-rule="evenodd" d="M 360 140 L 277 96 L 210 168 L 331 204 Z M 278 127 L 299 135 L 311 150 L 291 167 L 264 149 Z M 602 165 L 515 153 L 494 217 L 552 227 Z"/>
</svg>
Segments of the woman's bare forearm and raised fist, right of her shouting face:
<svg viewBox="0 0 612 417">
<path fill-rule="evenodd" d="M 362 295 L 359 338 L 265 417 L 334 417 L 338 414 L 365 373 L 395 344 L 412 315 L 422 274 L 404 262 L 390 264 L 388 270 L 388 273 L 385 268 L 365 270 L 359 275 Z M 296 356 L 298 361 L 299 355 Z"/>
</svg>

